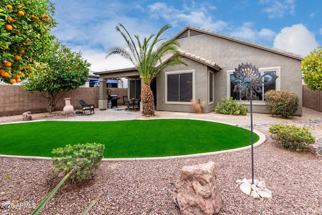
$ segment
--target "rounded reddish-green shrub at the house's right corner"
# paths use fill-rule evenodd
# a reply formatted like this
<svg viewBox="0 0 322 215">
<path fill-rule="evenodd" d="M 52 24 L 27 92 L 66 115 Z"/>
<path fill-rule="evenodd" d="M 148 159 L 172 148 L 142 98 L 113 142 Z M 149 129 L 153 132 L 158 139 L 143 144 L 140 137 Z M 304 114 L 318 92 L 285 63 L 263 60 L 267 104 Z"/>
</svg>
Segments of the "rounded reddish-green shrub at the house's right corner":
<svg viewBox="0 0 322 215">
<path fill-rule="evenodd" d="M 272 116 L 276 114 L 288 118 L 297 110 L 298 96 L 287 90 L 269 90 L 265 93 L 265 103 Z"/>
</svg>

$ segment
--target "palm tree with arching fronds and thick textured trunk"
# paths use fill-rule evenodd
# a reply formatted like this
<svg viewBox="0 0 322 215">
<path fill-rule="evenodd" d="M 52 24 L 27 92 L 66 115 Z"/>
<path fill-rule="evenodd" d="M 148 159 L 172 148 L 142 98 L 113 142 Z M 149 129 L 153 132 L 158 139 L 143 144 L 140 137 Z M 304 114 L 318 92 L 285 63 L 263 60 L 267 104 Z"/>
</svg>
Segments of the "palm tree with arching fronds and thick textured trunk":
<svg viewBox="0 0 322 215">
<path fill-rule="evenodd" d="M 187 65 L 179 54 L 180 44 L 175 39 L 166 40 L 160 37 L 164 31 L 172 27 L 169 24 L 162 27 L 156 35 L 152 34 L 149 38 L 145 37 L 143 41 L 140 41 L 138 35 L 134 35 L 136 39 L 134 41 L 125 27 L 122 24 L 119 25 L 124 32 L 121 31 L 119 26 L 116 27 L 116 31 L 123 36 L 127 47 L 114 47 L 107 53 L 107 57 L 112 54 L 119 54 L 134 64 L 144 82 L 141 92 L 142 115 L 154 116 L 154 98 L 150 83 L 167 65 Z M 171 58 L 162 61 L 162 57 L 166 55 L 171 56 Z"/>
</svg>

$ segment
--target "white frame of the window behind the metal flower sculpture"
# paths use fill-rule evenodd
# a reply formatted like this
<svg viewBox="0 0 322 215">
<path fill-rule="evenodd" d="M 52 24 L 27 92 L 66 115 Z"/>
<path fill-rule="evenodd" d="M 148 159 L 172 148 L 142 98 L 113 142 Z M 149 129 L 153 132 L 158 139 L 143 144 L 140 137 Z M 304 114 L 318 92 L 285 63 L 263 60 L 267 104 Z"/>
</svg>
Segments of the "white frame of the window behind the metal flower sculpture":
<svg viewBox="0 0 322 215">
<path fill-rule="evenodd" d="M 263 67 L 263 68 L 258 68 L 260 73 L 265 73 L 267 71 L 275 71 L 276 75 L 278 78 L 275 81 L 275 90 L 279 91 L 281 90 L 281 66 L 274 66 L 274 67 Z M 230 87 L 231 87 L 231 82 L 230 82 L 230 75 L 232 75 L 234 70 L 228 70 L 227 71 L 227 98 L 229 99 L 231 97 L 230 95 Z M 264 95 L 263 95 L 264 98 Z M 249 100 L 241 100 L 239 99 L 239 102 L 244 103 L 246 105 L 250 105 Z M 263 101 L 256 101 L 253 100 L 253 105 L 266 105 L 265 102 Z"/>
</svg>

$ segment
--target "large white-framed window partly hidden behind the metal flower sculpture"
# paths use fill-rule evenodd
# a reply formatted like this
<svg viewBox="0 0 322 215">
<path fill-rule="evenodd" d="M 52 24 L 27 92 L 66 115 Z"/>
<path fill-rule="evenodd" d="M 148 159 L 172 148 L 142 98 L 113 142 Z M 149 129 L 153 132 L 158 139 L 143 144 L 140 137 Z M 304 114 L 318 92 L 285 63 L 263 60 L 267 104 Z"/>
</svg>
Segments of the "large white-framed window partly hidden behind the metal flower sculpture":
<svg viewBox="0 0 322 215">
<path fill-rule="evenodd" d="M 269 90 L 280 90 L 280 70 L 281 67 L 269 67 L 269 68 L 259 68 L 259 71 L 262 75 L 264 75 L 265 73 L 275 73 L 279 78 L 277 78 L 277 80 L 275 81 L 274 84 L 270 85 L 270 86 L 262 86 L 261 87 L 261 91 L 260 92 L 256 92 L 257 98 L 253 98 L 253 100 L 257 103 L 265 103 L 264 101 L 264 95 L 265 92 L 269 91 Z M 248 100 L 246 99 L 246 96 L 244 96 L 243 98 L 240 98 L 239 93 L 238 92 L 233 92 L 234 89 L 234 85 L 231 83 L 231 81 L 234 79 L 233 75 L 232 75 L 232 71 L 228 71 L 228 77 L 227 77 L 227 81 L 229 83 L 227 83 L 227 86 L 230 86 L 227 88 L 227 97 L 232 97 L 233 99 L 236 100 L 240 100 L 240 101 L 245 101 L 248 102 Z"/>
</svg>

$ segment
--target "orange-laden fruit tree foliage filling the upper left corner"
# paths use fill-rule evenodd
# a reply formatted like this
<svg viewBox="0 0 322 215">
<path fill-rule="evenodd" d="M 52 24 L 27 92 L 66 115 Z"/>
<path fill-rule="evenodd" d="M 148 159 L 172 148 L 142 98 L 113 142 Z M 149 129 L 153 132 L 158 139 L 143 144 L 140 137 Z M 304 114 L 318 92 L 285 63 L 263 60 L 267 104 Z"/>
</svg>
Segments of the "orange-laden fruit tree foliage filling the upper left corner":
<svg viewBox="0 0 322 215">
<path fill-rule="evenodd" d="M 49 0 L 1 0 L 0 81 L 20 82 L 33 71 L 54 38 L 54 10 Z"/>
</svg>

